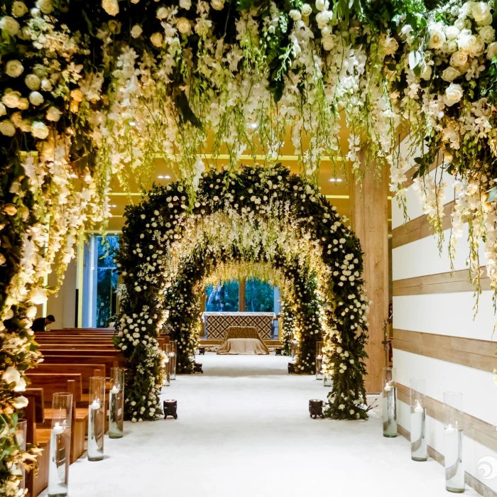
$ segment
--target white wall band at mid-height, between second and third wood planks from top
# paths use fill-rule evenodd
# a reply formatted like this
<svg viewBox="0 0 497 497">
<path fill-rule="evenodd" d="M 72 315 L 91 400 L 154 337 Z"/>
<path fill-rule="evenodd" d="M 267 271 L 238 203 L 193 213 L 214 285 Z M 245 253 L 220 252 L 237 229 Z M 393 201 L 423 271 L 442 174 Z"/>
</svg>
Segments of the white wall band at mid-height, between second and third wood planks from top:
<svg viewBox="0 0 497 497">
<path fill-rule="evenodd" d="M 491 290 L 481 293 L 474 319 L 476 297 L 473 292 L 393 297 L 393 327 L 497 342 L 497 334 L 493 337 L 497 316 L 493 313 L 492 295 Z"/>
</svg>

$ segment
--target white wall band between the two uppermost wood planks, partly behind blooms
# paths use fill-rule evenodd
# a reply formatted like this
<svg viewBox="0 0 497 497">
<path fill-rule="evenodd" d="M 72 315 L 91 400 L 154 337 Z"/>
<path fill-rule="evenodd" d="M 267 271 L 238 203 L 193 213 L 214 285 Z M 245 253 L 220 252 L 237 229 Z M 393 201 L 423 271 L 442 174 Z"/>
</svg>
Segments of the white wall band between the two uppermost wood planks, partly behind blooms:
<svg viewBox="0 0 497 497">
<path fill-rule="evenodd" d="M 464 232 L 457 240 L 456 256 L 454 258 L 454 271 L 467 268 L 466 260 L 469 256 L 468 226 L 464 225 Z M 405 244 L 392 251 L 393 280 L 416 278 L 429 274 L 447 273 L 451 271 L 449 258 L 450 229 L 444 231 L 444 244 L 442 253 L 438 251 L 437 238 L 427 236 L 420 240 Z M 485 248 L 479 248 L 480 265 L 486 264 Z"/>
</svg>

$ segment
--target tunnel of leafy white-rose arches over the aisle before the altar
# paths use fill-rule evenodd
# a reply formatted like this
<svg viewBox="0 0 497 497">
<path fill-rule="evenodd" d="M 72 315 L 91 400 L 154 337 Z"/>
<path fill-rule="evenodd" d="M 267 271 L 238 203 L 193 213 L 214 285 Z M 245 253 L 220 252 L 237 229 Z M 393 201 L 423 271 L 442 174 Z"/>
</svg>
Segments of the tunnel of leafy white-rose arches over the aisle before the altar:
<svg viewBox="0 0 497 497">
<path fill-rule="evenodd" d="M 194 207 L 188 205 L 177 182 L 154 187 L 126 210 L 117 258 L 126 293 L 116 344 L 131 373 L 129 419 L 154 419 L 160 411 L 163 327 L 178 340 L 180 371 L 191 371 L 200 324 L 195 288 L 219 264 L 237 261 L 269 263 L 292 280 L 302 324 L 297 368 L 313 371 L 324 332 L 324 368 L 333 378 L 328 415 L 366 417 L 361 246 L 336 209 L 281 165 L 204 173 Z"/>
</svg>

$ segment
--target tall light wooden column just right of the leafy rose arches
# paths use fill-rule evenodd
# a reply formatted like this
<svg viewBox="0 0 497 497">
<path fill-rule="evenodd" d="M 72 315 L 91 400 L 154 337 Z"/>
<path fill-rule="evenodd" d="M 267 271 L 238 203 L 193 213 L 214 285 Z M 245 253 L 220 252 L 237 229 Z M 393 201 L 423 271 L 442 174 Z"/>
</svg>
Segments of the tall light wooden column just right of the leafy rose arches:
<svg viewBox="0 0 497 497">
<path fill-rule="evenodd" d="M 385 364 L 383 321 L 388 317 L 388 172 L 375 178 L 371 165 L 361 183 L 350 181 L 351 226 L 361 241 L 364 252 L 364 280 L 368 300 L 369 340 L 365 378 L 366 392 L 381 391 L 381 375 Z M 362 186 L 361 186 L 362 185 Z"/>
</svg>

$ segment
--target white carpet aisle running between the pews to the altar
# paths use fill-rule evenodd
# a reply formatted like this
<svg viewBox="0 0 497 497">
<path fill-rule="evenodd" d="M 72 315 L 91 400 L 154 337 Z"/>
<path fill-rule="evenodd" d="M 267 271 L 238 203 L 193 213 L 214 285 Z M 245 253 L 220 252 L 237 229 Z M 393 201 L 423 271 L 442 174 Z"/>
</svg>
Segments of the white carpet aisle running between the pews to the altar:
<svg viewBox="0 0 497 497">
<path fill-rule="evenodd" d="M 375 413 L 366 422 L 310 419 L 308 400 L 328 389 L 288 375 L 287 357 L 197 361 L 203 375 L 164 389 L 178 400 L 178 420 L 126 423 L 123 439 L 106 437 L 104 461 L 72 464 L 71 497 L 449 495 L 442 466 L 411 461 L 408 441 L 384 438 Z"/>
</svg>

